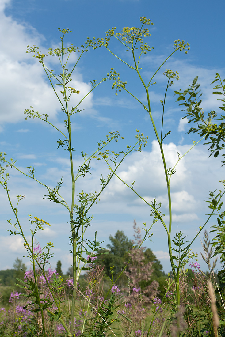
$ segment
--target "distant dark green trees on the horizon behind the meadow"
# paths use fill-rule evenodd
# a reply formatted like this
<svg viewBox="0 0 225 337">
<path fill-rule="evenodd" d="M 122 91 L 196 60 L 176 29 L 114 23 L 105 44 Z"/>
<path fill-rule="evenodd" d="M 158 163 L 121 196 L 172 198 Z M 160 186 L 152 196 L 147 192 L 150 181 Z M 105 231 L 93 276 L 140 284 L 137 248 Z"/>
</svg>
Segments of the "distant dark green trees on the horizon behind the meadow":
<svg viewBox="0 0 225 337">
<path fill-rule="evenodd" d="M 97 256 L 96 263 L 104 266 L 105 278 L 111 278 L 111 268 L 113 268 L 113 275 L 116 278 L 123 270 L 125 264 L 129 260 L 129 252 L 132 247 L 135 247 L 134 241 L 130 240 L 123 231 L 117 231 L 115 236 L 109 236 L 110 244 L 107 245 L 107 249 L 101 250 L 101 254 Z M 166 285 L 166 275 L 163 271 L 163 266 L 157 259 L 156 255 L 152 252 L 150 248 L 142 249 L 143 262 L 144 264 L 152 263 L 152 274 L 150 279 L 142 281 L 141 287 L 145 287 L 152 281 L 157 281 L 159 283 L 159 296 L 163 296 L 165 293 L 164 285 Z M 27 267 L 22 262 L 21 259 L 17 258 L 13 264 L 13 269 L 0 270 L 0 283 L 3 295 L 3 302 L 7 302 L 12 289 L 15 291 L 21 291 L 21 288 L 17 287 L 15 283 L 18 283 L 17 278 L 24 279 L 24 272 Z M 126 268 L 129 271 L 129 265 Z M 67 272 L 64 274 L 62 272 L 62 263 L 59 260 L 56 264 L 56 272 L 62 277 L 68 277 L 73 275 L 73 267 L 69 267 Z M 141 271 L 140 271 L 141 272 Z M 83 278 L 82 278 L 83 279 Z M 86 283 L 81 280 L 82 286 L 86 287 Z M 118 285 L 125 287 L 128 283 L 128 278 L 123 274 L 118 280 Z"/>
</svg>

